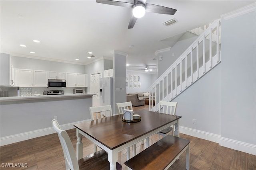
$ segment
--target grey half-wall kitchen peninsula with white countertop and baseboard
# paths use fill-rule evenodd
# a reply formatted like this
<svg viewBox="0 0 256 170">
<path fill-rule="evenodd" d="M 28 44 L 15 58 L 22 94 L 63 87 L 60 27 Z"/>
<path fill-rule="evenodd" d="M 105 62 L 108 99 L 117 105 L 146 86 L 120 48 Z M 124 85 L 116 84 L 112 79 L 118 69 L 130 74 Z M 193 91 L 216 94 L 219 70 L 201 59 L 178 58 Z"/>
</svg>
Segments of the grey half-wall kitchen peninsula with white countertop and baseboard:
<svg viewBox="0 0 256 170">
<path fill-rule="evenodd" d="M 91 119 L 92 93 L 0 98 L 1 146 L 54 133 L 51 121 L 62 129 Z"/>
</svg>

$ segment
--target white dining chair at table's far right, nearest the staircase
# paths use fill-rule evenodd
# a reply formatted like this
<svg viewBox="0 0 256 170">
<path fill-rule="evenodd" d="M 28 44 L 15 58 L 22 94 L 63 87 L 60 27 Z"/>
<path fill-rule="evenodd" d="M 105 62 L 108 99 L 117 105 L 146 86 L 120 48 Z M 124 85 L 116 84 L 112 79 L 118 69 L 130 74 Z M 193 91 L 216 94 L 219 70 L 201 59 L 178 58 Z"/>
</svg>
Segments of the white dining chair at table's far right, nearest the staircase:
<svg viewBox="0 0 256 170">
<path fill-rule="evenodd" d="M 166 101 L 160 101 L 159 102 L 159 113 L 165 113 L 170 115 L 176 115 L 176 107 L 178 102 L 166 102 Z M 166 129 L 158 132 L 158 137 L 160 139 L 160 135 L 165 137 L 172 131 L 172 135 L 174 135 L 174 125 L 167 127 Z"/>
</svg>

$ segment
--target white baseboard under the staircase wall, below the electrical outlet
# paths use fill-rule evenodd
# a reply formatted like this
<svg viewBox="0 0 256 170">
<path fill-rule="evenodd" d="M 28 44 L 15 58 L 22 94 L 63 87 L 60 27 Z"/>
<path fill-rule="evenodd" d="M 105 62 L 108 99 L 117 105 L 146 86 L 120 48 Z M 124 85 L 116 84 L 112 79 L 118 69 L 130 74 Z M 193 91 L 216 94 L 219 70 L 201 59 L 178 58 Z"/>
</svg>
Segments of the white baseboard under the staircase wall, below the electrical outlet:
<svg viewBox="0 0 256 170">
<path fill-rule="evenodd" d="M 186 135 L 198 137 L 200 139 L 205 139 L 207 141 L 212 141 L 215 143 L 220 143 L 220 135 L 216 135 L 214 133 L 199 131 L 196 129 L 191 129 L 191 128 L 182 127 L 182 126 L 179 126 L 179 130 L 180 130 L 180 133 L 184 133 Z"/>
</svg>

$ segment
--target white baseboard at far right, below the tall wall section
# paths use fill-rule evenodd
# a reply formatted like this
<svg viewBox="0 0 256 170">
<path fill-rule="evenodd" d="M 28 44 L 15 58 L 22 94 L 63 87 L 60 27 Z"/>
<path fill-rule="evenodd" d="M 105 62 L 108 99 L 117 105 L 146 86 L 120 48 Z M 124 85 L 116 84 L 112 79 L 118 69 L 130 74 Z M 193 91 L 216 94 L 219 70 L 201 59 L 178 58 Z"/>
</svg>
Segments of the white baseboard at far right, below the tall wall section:
<svg viewBox="0 0 256 170">
<path fill-rule="evenodd" d="M 220 137 L 220 146 L 256 155 L 256 145 Z"/>
</svg>

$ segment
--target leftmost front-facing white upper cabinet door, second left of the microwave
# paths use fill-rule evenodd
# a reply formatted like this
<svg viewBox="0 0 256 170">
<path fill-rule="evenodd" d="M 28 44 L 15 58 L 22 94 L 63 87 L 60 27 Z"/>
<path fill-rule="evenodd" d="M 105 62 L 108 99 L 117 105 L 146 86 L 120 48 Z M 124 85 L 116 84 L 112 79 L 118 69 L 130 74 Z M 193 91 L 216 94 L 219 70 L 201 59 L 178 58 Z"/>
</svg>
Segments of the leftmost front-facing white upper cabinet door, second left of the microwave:
<svg viewBox="0 0 256 170">
<path fill-rule="evenodd" d="M 32 87 L 34 85 L 34 70 L 14 69 L 14 86 Z"/>
</svg>

